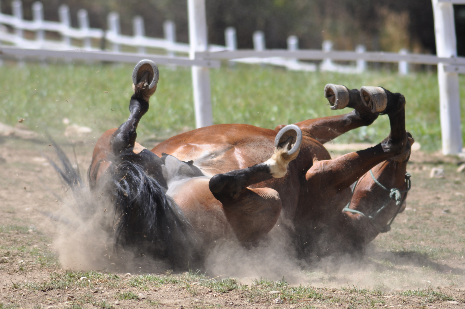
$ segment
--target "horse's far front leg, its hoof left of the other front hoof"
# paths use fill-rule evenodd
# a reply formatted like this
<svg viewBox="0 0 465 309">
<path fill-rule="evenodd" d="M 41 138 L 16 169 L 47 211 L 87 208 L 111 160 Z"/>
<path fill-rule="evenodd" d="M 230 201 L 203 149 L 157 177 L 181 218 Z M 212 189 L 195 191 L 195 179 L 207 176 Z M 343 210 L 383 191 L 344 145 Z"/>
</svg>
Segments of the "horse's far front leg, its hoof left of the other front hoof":
<svg viewBox="0 0 465 309">
<path fill-rule="evenodd" d="M 371 109 L 362 101 L 359 89 L 349 90 L 345 86 L 328 84 L 325 87 L 325 97 L 331 109 L 345 107 L 354 110 L 348 114 L 310 119 L 296 123 L 296 125 L 314 139 L 324 144 L 327 141 L 344 134 L 347 131 L 369 126 L 378 118 L 379 113 L 372 113 Z M 279 129 L 280 127 L 277 127 Z"/>
</svg>

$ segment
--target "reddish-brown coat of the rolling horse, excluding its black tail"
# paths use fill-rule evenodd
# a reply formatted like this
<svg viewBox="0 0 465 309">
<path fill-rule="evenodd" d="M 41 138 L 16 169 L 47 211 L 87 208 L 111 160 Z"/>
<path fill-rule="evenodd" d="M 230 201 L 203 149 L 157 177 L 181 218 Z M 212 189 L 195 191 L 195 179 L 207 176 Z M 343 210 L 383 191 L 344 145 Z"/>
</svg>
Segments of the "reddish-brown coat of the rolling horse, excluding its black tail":
<svg viewBox="0 0 465 309">
<path fill-rule="evenodd" d="M 402 205 L 392 200 L 373 219 L 343 209 L 350 202 L 351 209 L 369 215 L 389 199 L 389 192 L 373 181 L 370 169 L 385 188 L 405 190 L 413 139 L 405 132 L 402 94 L 367 87 L 368 90 L 362 88 L 365 92 L 360 95 L 357 89 L 333 86 L 326 89 L 332 106 L 338 103 L 339 108 L 354 110 L 296 123 L 302 131 L 302 141 L 298 155 L 291 157 L 286 152 L 286 138 L 291 144 L 295 144 L 295 138 L 286 135 L 283 142 L 279 141 L 280 146 L 275 146 L 275 137 L 284 126 L 272 130 L 246 124 L 199 128 L 173 136 L 149 152 L 135 142 L 137 123 L 148 109 L 148 96 L 143 95 L 145 88 L 140 81 L 131 100 L 129 120 L 118 129 L 106 131 L 94 148 L 89 168 L 91 187 L 104 183 L 103 175 L 109 173 L 112 164 L 113 169 L 118 169 L 114 158 L 120 156 L 120 162 L 142 162 L 151 177 L 161 179 L 166 195 L 176 202 L 192 226 L 198 246 L 208 246 L 221 237 L 253 244 L 280 219 L 303 256 L 363 249 L 380 231 L 385 231 L 393 216 L 403 211 Z M 376 101 L 375 91 L 384 95 L 384 102 Z M 343 107 L 341 93 L 346 96 Z M 339 99 L 335 98 L 338 94 Z M 381 110 L 373 112 L 376 104 L 381 105 Z M 353 128 L 370 125 L 379 114 L 387 114 L 391 122 L 391 133 L 384 141 L 331 159 L 323 146 L 325 142 Z M 132 155 L 120 155 L 128 153 Z M 147 155 L 151 159 L 144 159 Z M 164 163 L 159 163 L 160 158 Z M 144 163 L 147 160 L 158 163 Z M 197 174 L 169 179 L 167 170 L 173 169 L 171 164 L 179 170 L 195 169 Z M 284 176 L 278 172 L 283 168 Z M 358 183 L 352 194 L 355 181 Z M 402 193 L 401 202 L 405 195 Z"/>
</svg>

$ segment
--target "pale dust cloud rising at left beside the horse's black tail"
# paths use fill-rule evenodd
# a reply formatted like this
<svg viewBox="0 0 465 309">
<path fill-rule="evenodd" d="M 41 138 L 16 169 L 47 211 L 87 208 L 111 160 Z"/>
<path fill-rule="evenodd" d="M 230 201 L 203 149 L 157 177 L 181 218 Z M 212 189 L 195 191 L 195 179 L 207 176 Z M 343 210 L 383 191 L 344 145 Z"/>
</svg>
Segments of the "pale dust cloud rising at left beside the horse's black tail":
<svg viewBox="0 0 465 309">
<path fill-rule="evenodd" d="M 163 261 L 139 254 L 136 248 L 115 246 L 113 234 L 119 216 L 114 204 L 104 194 L 87 187 L 74 188 L 67 194 L 58 217 L 55 246 L 65 269 L 105 270 L 110 272 L 151 273 L 167 269 Z M 69 192 L 68 191 L 68 192 Z"/>
</svg>

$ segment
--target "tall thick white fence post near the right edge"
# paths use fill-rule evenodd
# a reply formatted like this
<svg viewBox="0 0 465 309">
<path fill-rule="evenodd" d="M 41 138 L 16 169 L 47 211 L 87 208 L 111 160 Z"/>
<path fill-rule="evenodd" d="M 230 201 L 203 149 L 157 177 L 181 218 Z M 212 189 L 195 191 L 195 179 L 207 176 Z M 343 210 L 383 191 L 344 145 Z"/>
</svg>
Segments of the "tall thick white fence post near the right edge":
<svg viewBox="0 0 465 309">
<path fill-rule="evenodd" d="M 432 6 L 436 54 L 438 57 L 457 57 L 452 3 L 432 0 Z M 458 154 L 462 151 L 458 74 L 445 72 L 444 64 L 438 63 L 438 84 L 442 152 L 444 155 Z"/>
</svg>

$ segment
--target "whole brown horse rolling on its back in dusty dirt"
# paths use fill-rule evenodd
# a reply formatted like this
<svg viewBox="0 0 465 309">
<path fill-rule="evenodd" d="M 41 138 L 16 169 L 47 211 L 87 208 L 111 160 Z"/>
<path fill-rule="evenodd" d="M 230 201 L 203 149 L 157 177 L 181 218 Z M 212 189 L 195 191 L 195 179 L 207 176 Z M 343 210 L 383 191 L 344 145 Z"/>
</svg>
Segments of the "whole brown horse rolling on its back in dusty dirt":
<svg viewBox="0 0 465 309">
<path fill-rule="evenodd" d="M 281 223 L 309 259 L 360 252 L 404 210 L 413 139 L 402 94 L 328 84 L 331 108 L 352 112 L 274 130 L 213 125 L 148 150 L 136 129 L 158 76 L 150 60 L 135 67 L 130 116 L 100 137 L 88 171 L 91 189 L 115 203 L 120 245 L 186 268 L 219 238 L 253 246 Z M 391 124 L 384 141 L 331 159 L 323 144 L 382 114 Z"/>
</svg>

